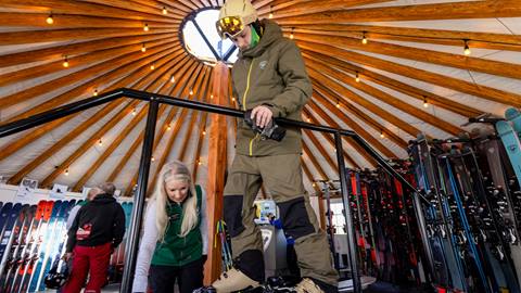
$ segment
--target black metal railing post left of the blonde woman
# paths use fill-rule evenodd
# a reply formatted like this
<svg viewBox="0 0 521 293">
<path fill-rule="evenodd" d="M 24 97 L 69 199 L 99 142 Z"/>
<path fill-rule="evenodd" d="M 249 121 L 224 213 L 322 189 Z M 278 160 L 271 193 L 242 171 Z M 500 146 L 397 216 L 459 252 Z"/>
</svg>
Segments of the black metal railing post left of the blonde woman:
<svg viewBox="0 0 521 293">
<path fill-rule="evenodd" d="M 130 219 L 129 231 L 127 235 L 127 245 L 125 251 L 125 267 L 123 270 L 122 288 L 119 292 L 130 293 L 132 290 L 134 271 L 139 249 L 139 232 L 143 217 L 144 198 L 147 196 L 147 186 L 149 182 L 150 160 L 152 157 L 152 146 L 154 143 L 155 123 L 157 120 L 158 102 L 151 98 L 147 126 L 144 130 L 144 141 L 139 162 L 138 188 L 134 196 L 132 217 Z"/>
</svg>

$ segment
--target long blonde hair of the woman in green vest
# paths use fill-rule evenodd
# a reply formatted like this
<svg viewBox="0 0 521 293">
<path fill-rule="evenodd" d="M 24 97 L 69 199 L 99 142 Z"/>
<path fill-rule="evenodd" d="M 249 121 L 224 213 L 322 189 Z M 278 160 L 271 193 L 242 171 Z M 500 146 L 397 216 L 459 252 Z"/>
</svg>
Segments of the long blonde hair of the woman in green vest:
<svg viewBox="0 0 521 293">
<path fill-rule="evenodd" d="M 189 186 L 189 194 L 182 204 L 182 222 L 180 237 L 186 237 L 190 230 L 192 230 L 199 220 L 198 216 L 198 196 L 195 194 L 195 187 L 192 181 L 192 175 L 180 161 L 174 161 L 163 165 L 160 177 L 155 184 L 155 191 L 153 200 L 156 202 L 157 209 L 155 211 L 155 226 L 158 231 L 157 241 L 163 241 L 166 233 L 166 227 L 168 225 L 168 215 L 166 214 L 166 206 L 168 204 L 168 195 L 165 190 L 165 182 L 168 180 L 186 181 Z M 191 195 L 190 195 L 191 194 Z"/>
</svg>

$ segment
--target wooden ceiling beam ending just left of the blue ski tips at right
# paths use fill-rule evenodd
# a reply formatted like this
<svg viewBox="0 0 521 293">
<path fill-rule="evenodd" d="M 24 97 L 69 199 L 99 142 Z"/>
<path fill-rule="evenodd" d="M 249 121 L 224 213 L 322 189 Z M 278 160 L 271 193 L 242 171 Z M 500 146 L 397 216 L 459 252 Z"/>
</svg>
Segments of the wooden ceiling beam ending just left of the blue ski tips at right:
<svg viewBox="0 0 521 293">
<path fill-rule="evenodd" d="M 310 51 L 303 50 L 303 53 L 309 54 Z M 409 86 L 405 82 L 398 81 L 396 79 L 386 77 L 384 75 L 374 73 L 372 71 L 369 71 L 364 67 L 356 66 L 352 63 L 345 62 L 340 59 L 335 59 L 329 55 L 320 54 L 313 52 L 314 55 L 318 58 L 318 60 L 322 60 L 328 64 L 334 64 L 338 67 L 341 67 L 342 69 L 351 71 L 353 75 L 358 73 L 360 79 L 367 79 L 372 82 L 376 82 L 378 85 L 384 86 L 386 88 L 393 89 L 395 91 L 399 91 L 402 93 L 405 93 L 411 98 L 416 98 L 417 100 L 423 102 L 424 98 L 428 99 L 429 104 L 440 106 L 442 109 L 445 109 L 447 111 L 457 113 L 461 116 L 466 117 L 475 117 L 480 114 L 482 114 L 482 111 L 479 111 L 476 109 L 470 107 L 468 105 L 460 104 L 458 102 L 455 102 L 453 100 L 446 99 L 444 97 L 437 95 L 433 92 L 429 92 L 425 90 L 422 90 L 420 88 L 416 88 L 412 86 Z"/>
</svg>

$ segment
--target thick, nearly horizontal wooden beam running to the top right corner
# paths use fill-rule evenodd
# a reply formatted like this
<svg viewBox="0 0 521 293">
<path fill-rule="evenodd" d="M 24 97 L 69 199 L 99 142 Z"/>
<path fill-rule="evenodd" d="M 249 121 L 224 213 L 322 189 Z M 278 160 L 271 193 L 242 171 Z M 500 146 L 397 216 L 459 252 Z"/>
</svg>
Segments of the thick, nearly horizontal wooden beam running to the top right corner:
<svg viewBox="0 0 521 293">
<path fill-rule="evenodd" d="M 321 4 L 327 5 L 327 3 Z M 488 0 L 327 11 L 310 15 L 278 17 L 277 20 L 283 18 L 285 25 L 293 25 L 330 24 L 333 20 L 336 23 L 363 23 L 518 16 L 521 16 L 521 5 L 519 5 L 519 1 Z"/>
</svg>

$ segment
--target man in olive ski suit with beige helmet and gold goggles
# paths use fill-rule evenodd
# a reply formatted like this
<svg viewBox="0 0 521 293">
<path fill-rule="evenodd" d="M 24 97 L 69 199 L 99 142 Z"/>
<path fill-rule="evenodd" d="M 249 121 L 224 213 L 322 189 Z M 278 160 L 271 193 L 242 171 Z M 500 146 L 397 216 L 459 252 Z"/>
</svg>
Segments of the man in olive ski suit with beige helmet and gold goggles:
<svg viewBox="0 0 521 293">
<path fill-rule="evenodd" d="M 233 97 L 264 128 L 271 118 L 301 120 L 312 85 L 296 44 L 269 20 L 257 20 L 249 0 L 228 0 L 217 31 L 239 48 L 233 64 Z M 256 288 L 264 282 L 263 240 L 253 218 L 253 202 L 264 182 L 280 211 L 284 232 L 295 240 L 301 276 L 297 292 L 336 292 L 326 233 L 320 230 L 302 181 L 301 130 L 287 128 L 279 142 L 263 139 L 239 120 L 236 157 L 228 174 L 224 218 L 231 235 L 234 268 L 212 285 L 220 292 Z"/>
</svg>

